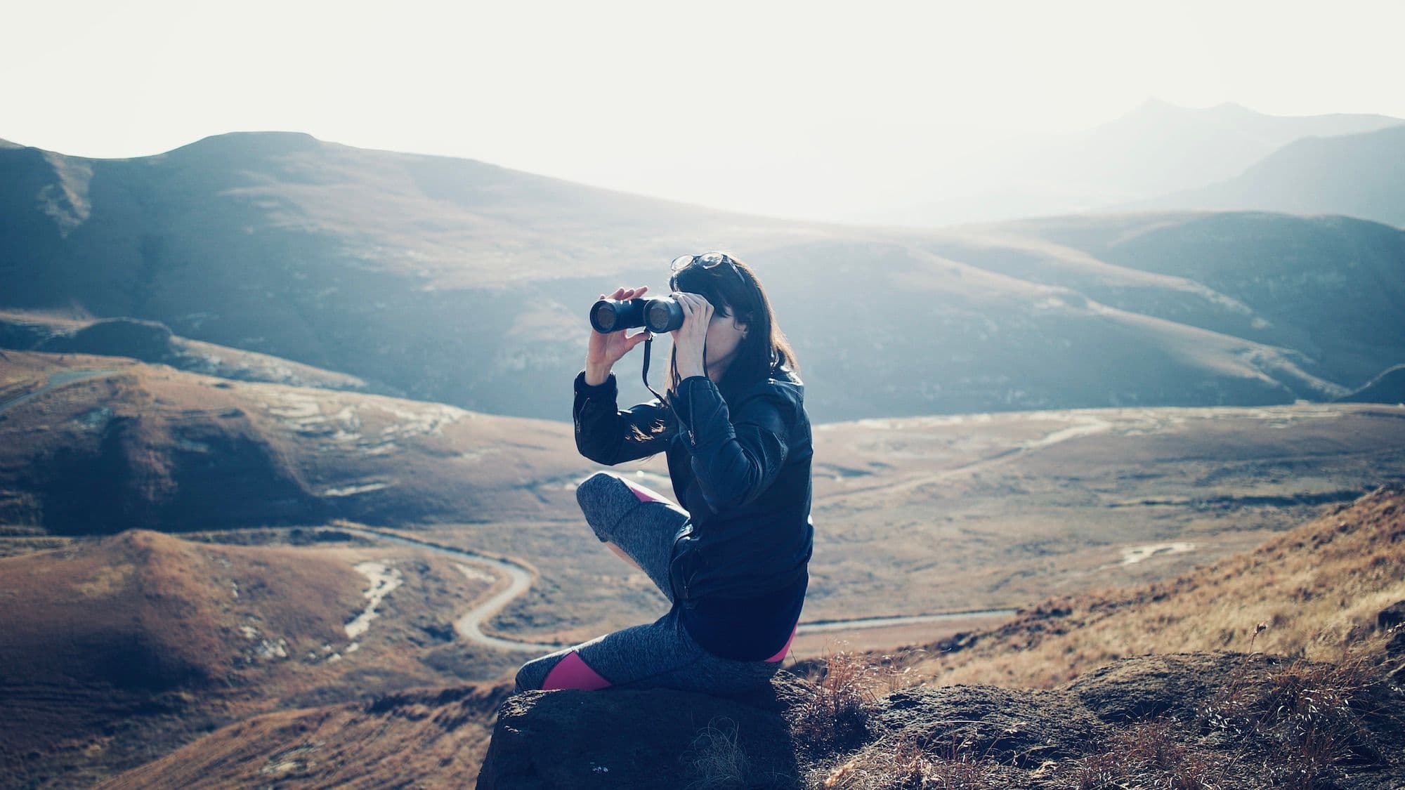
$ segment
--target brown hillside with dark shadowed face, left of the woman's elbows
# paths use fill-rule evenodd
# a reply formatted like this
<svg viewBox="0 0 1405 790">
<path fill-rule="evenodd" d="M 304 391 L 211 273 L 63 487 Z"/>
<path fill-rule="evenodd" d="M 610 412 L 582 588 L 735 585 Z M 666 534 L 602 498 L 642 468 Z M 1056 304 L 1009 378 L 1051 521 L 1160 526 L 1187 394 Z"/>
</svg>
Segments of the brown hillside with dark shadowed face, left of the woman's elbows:
<svg viewBox="0 0 1405 790">
<path fill-rule="evenodd" d="M 7 357 L 0 387 L 37 395 L 0 413 L 0 523 L 49 533 L 532 517 L 573 506 L 562 484 L 590 467 L 563 423 L 107 357 Z M 96 375 L 41 391 L 84 370 Z"/>
</svg>

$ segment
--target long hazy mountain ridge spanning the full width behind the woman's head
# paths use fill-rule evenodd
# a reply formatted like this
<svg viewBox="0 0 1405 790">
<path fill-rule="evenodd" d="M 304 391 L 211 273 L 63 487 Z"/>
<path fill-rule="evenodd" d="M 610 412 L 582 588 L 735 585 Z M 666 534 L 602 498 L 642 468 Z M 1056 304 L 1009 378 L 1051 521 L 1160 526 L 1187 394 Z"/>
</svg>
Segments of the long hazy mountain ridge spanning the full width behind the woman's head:
<svg viewBox="0 0 1405 790">
<path fill-rule="evenodd" d="M 1333 280 L 1335 304 L 1359 298 L 1345 325 L 1312 305 L 1283 319 L 1280 305 L 1256 302 L 1253 273 L 1149 276 L 1139 259 L 1030 239 L 1028 225 L 784 222 L 294 134 L 225 135 L 129 160 L 4 149 L 0 216 L 10 219 L 0 308 L 159 322 L 379 391 L 514 416 L 565 419 L 562 392 L 600 291 L 658 292 L 665 260 L 708 247 L 757 267 L 822 422 L 1321 401 L 1405 358 L 1399 335 L 1378 330 L 1399 319 L 1381 308 L 1375 276 L 1405 236 L 1336 219 L 1274 222 L 1302 247 L 1300 266 Z M 1124 221 L 1061 222 L 1096 235 Z M 1198 214 L 1137 216 L 1131 225 L 1165 228 L 1144 233 L 1156 243 L 1138 256 L 1220 271 L 1245 254 L 1272 263 L 1283 246 L 1259 216 L 1213 222 L 1203 238 Z M 1031 246 L 1080 273 L 1013 268 Z M 1359 259 L 1368 266 L 1353 268 Z M 655 349 L 655 385 L 667 344 Z M 617 368 L 622 399 L 646 398 L 639 361 Z"/>
</svg>

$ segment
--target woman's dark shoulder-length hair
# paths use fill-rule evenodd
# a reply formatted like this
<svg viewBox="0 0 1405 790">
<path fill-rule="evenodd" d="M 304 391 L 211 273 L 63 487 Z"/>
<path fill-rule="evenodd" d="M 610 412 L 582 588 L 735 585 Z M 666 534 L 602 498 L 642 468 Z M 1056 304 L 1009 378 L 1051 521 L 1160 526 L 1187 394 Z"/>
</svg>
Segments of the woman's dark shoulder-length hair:
<svg viewBox="0 0 1405 790">
<path fill-rule="evenodd" d="M 736 357 L 717 385 L 728 402 L 733 402 L 736 395 L 770 378 L 777 367 L 799 377 L 799 360 L 795 358 L 785 333 L 776 323 L 776 311 L 771 309 L 766 288 L 750 266 L 735 257 L 732 261 L 736 271 L 726 263 L 712 268 L 693 264 L 669 278 L 669 291 L 701 294 L 718 313 L 725 312 L 738 323 L 746 325 L 746 337 L 738 343 Z M 669 389 L 677 392 L 681 381 L 677 349 L 669 358 L 669 378 L 673 382 Z"/>
</svg>

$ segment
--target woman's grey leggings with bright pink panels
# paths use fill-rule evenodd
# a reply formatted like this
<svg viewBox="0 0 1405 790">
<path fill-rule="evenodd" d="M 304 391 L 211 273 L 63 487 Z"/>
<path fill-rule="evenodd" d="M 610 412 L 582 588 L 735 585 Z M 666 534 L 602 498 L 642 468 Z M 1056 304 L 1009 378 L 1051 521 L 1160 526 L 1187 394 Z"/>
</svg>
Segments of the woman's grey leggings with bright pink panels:
<svg viewBox="0 0 1405 790">
<path fill-rule="evenodd" d="M 576 488 L 586 522 L 601 541 L 624 550 L 673 603 L 669 559 L 673 538 L 688 513 L 667 498 L 610 472 Z M 646 626 L 634 626 L 528 661 L 517 671 L 527 689 L 681 689 L 729 694 L 764 685 L 787 648 L 770 661 L 732 661 L 702 649 L 679 619 L 679 607 Z"/>
</svg>

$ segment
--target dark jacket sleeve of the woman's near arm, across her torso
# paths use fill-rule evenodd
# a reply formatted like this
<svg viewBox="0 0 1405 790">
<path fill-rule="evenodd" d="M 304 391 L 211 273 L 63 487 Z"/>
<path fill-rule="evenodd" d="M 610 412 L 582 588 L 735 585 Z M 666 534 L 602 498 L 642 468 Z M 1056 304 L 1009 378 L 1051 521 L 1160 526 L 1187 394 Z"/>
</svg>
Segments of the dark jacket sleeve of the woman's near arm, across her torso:
<svg viewBox="0 0 1405 790">
<path fill-rule="evenodd" d="M 679 382 L 679 426 L 686 432 L 693 474 L 714 513 L 760 496 L 790 450 L 791 401 L 759 394 L 738 403 L 736 415 L 711 380 L 693 375 Z"/>
</svg>

